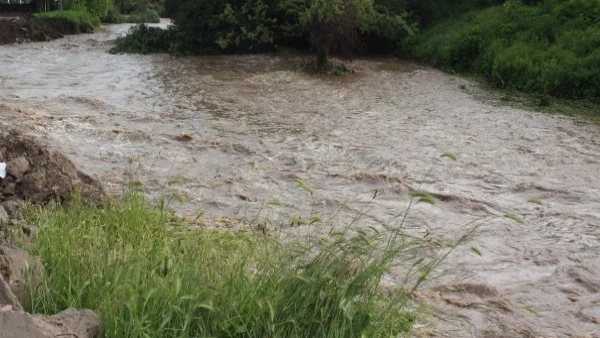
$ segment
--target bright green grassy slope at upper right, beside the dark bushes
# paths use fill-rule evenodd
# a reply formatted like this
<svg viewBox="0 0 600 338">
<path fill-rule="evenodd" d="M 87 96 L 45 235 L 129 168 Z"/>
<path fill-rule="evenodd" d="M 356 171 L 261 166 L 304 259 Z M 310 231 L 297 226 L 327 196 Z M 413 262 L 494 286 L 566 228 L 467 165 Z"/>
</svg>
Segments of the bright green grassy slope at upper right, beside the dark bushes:
<svg viewBox="0 0 600 338">
<path fill-rule="evenodd" d="M 433 27 L 415 55 L 498 87 L 600 100 L 600 2 L 508 1 Z"/>
</svg>

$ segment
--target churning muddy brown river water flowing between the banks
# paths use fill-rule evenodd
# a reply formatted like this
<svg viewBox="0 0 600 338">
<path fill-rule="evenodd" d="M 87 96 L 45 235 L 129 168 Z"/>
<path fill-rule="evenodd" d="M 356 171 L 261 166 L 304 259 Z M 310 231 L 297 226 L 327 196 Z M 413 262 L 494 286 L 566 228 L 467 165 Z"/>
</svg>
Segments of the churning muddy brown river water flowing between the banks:
<svg viewBox="0 0 600 338">
<path fill-rule="evenodd" d="M 407 231 L 456 241 L 485 222 L 419 293 L 435 310 L 423 334 L 600 337 L 600 127 L 396 60 L 331 78 L 297 71 L 297 56 L 106 53 L 127 27 L 1 46 L 2 122 L 115 191 L 133 172 L 216 226 L 386 222 L 410 191 L 431 192 L 439 203 L 413 206 Z"/>
</svg>

